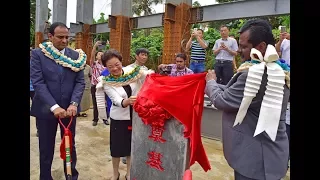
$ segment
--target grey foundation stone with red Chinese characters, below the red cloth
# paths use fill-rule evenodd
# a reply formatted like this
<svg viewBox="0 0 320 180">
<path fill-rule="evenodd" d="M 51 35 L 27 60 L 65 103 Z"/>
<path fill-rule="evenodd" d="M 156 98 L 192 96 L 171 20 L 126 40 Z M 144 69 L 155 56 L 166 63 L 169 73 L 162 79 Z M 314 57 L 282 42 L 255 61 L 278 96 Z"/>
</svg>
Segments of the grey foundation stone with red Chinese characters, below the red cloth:
<svg viewBox="0 0 320 180">
<path fill-rule="evenodd" d="M 165 123 L 162 137 L 166 142 L 149 139 L 151 126 L 145 125 L 133 112 L 131 143 L 131 180 L 182 180 L 189 168 L 189 140 L 184 138 L 184 126 L 175 119 Z M 161 158 L 163 171 L 150 167 L 148 152 L 156 151 Z"/>
</svg>

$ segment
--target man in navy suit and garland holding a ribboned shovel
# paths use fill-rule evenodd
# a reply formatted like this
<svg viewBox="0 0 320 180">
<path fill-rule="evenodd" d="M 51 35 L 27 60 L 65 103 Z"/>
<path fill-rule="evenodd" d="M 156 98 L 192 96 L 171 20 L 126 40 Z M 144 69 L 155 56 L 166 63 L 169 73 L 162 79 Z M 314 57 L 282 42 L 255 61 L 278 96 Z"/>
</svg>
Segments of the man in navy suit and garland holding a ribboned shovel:
<svg viewBox="0 0 320 180">
<path fill-rule="evenodd" d="M 80 56 L 77 51 L 67 47 L 68 36 L 69 30 L 65 24 L 53 23 L 48 33 L 52 44 L 49 44 L 47 49 L 44 48 L 45 46 L 40 46 L 41 48 L 33 50 L 31 55 L 30 77 L 35 89 L 31 115 L 37 118 L 39 128 L 40 180 L 52 179 L 51 165 L 54 156 L 58 118 L 67 127 L 71 116 L 73 116 L 73 120 L 69 129 L 72 133 L 73 142 L 71 151 L 72 179 L 78 179 L 74 137 L 76 115 L 77 112 L 80 112 L 78 104 L 80 104 L 82 98 L 85 81 L 82 68 L 65 67 L 57 63 L 63 59 L 62 57 L 69 57 L 71 61 L 76 62 L 74 60 L 77 60 Z M 50 47 L 53 51 L 48 50 Z M 45 52 L 43 52 L 46 50 L 48 50 L 49 55 L 45 55 Z M 74 63 L 71 63 L 71 65 L 74 65 Z M 60 131 L 62 138 L 64 129 L 61 125 Z M 66 172 L 66 168 L 64 169 Z"/>
</svg>

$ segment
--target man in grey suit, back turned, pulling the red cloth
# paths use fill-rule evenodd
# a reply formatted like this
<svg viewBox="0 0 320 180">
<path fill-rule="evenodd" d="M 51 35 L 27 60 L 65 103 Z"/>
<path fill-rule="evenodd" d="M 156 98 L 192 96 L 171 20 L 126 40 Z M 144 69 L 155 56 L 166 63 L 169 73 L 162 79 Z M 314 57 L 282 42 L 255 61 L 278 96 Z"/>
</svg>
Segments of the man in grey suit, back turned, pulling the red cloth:
<svg viewBox="0 0 320 180">
<path fill-rule="evenodd" d="M 290 95 L 288 87 L 290 86 L 288 80 L 284 80 L 286 71 L 274 62 L 268 61 L 263 64 L 252 61 L 253 58 L 261 60 L 263 57 L 265 59 L 262 61 L 266 61 L 266 57 L 271 57 L 265 56 L 270 52 L 268 49 L 274 50 L 272 53 L 276 53 L 274 44 L 275 40 L 269 22 L 261 19 L 249 20 L 240 29 L 239 38 L 239 52 L 242 60 L 247 64 L 244 63 L 240 66 L 238 73 L 225 86 L 217 84 L 214 71 L 210 70 L 206 77 L 205 92 L 214 106 L 223 111 L 223 151 L 228 164 L 234 169 L 236 180 L 280 180 L 287 172 L 289 144 L 285 113 Z M 252 49 L 253 51 L 251 51 Z M 257 52 L 255 50 L 261 53 L 260 57 L 250 55 L 252 52 Z M 277 54 L 272 57 L 276 59 Z M 250 63 L 251 67 L 245 68 Z M 255 72 L 250 69 L 257 67 L 261 71 L 257 76 L 252 76 L 252 73 Z M 278 74 L 268 76 L 267 74 L 275 70 L 269 69 L 269 67 L 278 68 Z M 250 73 L 248 73 L 249 71 Z M 278 80 L 277 83 L 271 82 L 273 78 L 278 78 L 280 75 L 281 80 Z M 255 85 L 247 85 L 247 83 L 258 81 L 260 84 L 258 83 L 259 86 L 256 86 L 256 89 L 254 89 Z M 274 90 L 273 88 L 277 90 L 275 91 L 277 93 L 271 92 Z M 248 106 L 243 106 L 246 104 L 246 100 L 250 99 L 248 97 L 250 92 L 255 93 L 254 96 L 251 96 L 252 101 L 247 103 Z M 271 95 L 276 97 L 270 98 Z M 275 102 L 278 104 L 269 105 Z M 275 106 L 277 108 L 273 109 Z M 238 119 L 243 107 L 246 107 L 247 110 L 242 114 L 244 115 L 242 123 L 237 124 L 235 120 Z M 258 123 L 261 119 L 268 121 L 268 123 Z M 272 122 L 276 123 L 271 125 L 273 127 L 270 130 L 268 128 L 271 127 Z M 264 127 L 268 126 L 268 130 L 261 130 L 259 128 L 261 124 Z"/>
</svg>

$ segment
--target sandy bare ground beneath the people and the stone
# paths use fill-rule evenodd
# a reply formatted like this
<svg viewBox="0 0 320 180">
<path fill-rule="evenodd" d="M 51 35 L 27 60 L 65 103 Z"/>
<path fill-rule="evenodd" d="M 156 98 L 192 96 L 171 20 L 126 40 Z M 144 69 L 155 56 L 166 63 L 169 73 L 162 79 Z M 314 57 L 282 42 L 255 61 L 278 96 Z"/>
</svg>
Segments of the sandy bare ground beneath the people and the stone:
<svg viewBox="0 0 320 180">
<path fill-rule="evenodd" d="M 80 173 L 79 180 L 109 180 L 112 176 L 112 163 L 109 151 L 109 126 L 99 121 L 92 126 L 92 110 L 88 111 L 87 118 L 78 118 L 76 147 L 78 153 L 77 169 Z M 36 137 L 35 119 L 30 117 L 30 180 L 39 179 L 39 150 Z M 59 128 L 58 128 L 59 129 Z M 195 164 L 191 167 L 193 180 L 233 180 L 233 170 L 228 166 L 222 152 L 220 141 L 202 138 L 212 170 L 204 172 Z M 54 180 L 63 180 L 63 166 L 59 157 L 60 130 L 56 136 L 55 157 L 52 164 Z M 120 164 L 120 180 L 124 180 L 126 166 Z M 290 179 L 288 171 L 285 180 Z"/>
</svg>

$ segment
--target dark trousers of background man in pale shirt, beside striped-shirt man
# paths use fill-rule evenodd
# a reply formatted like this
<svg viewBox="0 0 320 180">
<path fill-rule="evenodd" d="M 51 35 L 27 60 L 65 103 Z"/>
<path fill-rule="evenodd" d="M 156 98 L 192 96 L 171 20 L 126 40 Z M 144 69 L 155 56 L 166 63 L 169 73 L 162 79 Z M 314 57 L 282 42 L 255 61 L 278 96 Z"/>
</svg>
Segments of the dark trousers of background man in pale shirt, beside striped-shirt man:
<svg viewBox="0 0 320 180">
<path fill-rule="evenodd" d="M 233 76 L 233 64 L 228 60 L 216 60 L 214 71 L 217 75 L 217 83 L 226 85 Z"/>
</svg>

